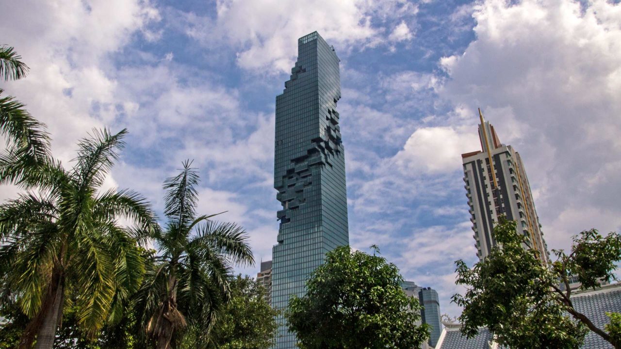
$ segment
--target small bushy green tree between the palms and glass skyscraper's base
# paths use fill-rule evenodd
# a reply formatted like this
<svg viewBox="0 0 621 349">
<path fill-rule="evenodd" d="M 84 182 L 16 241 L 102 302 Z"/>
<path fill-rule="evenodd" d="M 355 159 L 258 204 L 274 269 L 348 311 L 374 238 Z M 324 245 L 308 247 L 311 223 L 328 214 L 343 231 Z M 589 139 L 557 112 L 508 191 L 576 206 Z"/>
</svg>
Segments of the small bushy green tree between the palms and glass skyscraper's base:
<svg viewBox="0 0 621 349">
<path fill-rule="evenodd" d="M 268 349 L 276 337 L 278 311 L 265 300 L 265 288 L 249 276 L 230 283 L 230 301 L 218 312 L 210 348 Z M 196 347 L 194 347 L 196 348 Z"/>
</svg>

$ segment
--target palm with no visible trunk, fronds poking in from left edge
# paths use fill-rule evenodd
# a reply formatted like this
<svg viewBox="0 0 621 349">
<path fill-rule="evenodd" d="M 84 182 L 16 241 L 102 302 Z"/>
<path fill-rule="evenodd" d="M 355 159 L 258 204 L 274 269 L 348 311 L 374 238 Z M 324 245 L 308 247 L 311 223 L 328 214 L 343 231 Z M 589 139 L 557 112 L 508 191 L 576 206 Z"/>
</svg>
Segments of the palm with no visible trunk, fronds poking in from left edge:
<svg viewBox="0 0 621 349">
<path fill-rule="evenodd" d="M 28 66 L 14 48 L 0 45 L 0 78 L 23 78 Z M 0 89 L 0 95 L 4 93 Z M 7 137 L 7 150 L 0 154 L 0 184 L 22 182 L 24 174 L 49 158 L 50 137 L 45 124 L 37 121 L 24 104 L 12 96 L 0 97 L 0 134 Z M 32 184 L 32 183 L 31 183 Z"/>
</svg>

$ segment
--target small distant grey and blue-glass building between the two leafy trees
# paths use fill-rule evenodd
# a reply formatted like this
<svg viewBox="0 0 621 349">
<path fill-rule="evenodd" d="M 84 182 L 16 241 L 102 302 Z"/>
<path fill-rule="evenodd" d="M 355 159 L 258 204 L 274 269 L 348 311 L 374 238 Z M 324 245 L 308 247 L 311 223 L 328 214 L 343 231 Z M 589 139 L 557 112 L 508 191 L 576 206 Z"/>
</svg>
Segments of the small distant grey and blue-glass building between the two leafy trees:
<svg viewBox="0 0 621 349">
<path fill-rule="evenodd" d="M 420 305 L 424 307 L 420 313 L 421 321 L 414 325 L 428 324 L 431 327 L 428 344 L 435 347 L 442 333 L 442 322 L 440 322 L 440 301 L 438 292 L 432 288 L 422 288 L 414 281 L 404 281 L 401 288 L 409 297 L 417 297 Z"/>
</svg>

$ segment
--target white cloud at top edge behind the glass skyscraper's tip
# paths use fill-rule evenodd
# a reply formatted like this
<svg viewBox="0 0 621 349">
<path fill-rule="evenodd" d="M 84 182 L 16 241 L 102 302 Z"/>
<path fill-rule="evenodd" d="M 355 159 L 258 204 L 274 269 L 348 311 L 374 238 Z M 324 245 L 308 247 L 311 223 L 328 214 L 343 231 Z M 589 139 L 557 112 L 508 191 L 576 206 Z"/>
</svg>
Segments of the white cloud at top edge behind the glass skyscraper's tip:
<svg viewBox="0 0 621 349">
<path fill-rule="evenodd" d="M 224 41 L 237 48 L 237 63 L 259 73 L 289 71 L 296 58 L 297 39 L 317 30 L 337 52 L 375 47 L 413 37 L 403 17 L 413 19 L 417 6 L 385 0 L 221 0 L 217 18 L 186 13 L 184 31 L 206 45 Z M 372 24 L 373 22 L 373 24 Z M 393 31 L 391 31 L 393 30 Z M 292 49 L 293 48 L 293 49 Z"/>
</svg>

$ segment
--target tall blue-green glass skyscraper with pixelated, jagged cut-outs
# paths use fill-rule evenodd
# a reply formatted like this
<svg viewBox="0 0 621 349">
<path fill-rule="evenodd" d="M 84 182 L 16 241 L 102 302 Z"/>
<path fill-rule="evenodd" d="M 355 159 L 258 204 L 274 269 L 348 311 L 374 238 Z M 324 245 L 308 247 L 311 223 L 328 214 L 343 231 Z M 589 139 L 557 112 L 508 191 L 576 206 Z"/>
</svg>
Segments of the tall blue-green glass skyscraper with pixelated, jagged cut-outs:
<svg viewBox="0 0 621 349">
<path fill-rule="evenodd" d="M 284 310 L 306 293 L 309 274 L 325 253 L 349 244 L 345 151 L 338 125 L 339 59 L 313 32 L 297 40 L 297 61 L 276 96 L 274 188 L 283 205 L 274 245 L 272 305 Z M 296 348 L 283 316 L 275 348 Z"/>
</svg>

